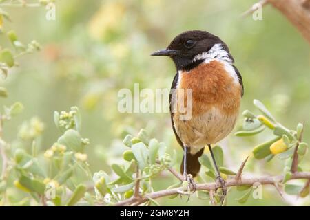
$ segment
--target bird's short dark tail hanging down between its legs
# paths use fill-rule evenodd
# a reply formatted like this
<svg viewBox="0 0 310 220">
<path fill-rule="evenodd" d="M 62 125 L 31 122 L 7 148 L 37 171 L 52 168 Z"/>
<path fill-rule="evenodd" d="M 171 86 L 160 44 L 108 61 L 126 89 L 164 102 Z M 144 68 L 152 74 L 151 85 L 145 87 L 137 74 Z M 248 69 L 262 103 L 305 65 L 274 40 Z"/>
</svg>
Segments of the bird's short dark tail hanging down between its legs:
<svg viewBox="0 0 310 220">
<path fill-rule="evenodd" d="M 186 169 L 187 173 L 190 173 L 193 177 L 196 177 L 196 175 L 199 173 L 200 170 L 200 163 L 198 161 L 198 158 L 203 155 L 203 150 L 205 148 L 202 148 L 200 151 L 198 151 L 196 154 L 192 155 L 189 152 L 187 152 L 187 164 Z M 183 174 L 184 171 L 184 156 L 182 159 L 182 164 L 180 166 L 180 172 Z"/>
</svg>

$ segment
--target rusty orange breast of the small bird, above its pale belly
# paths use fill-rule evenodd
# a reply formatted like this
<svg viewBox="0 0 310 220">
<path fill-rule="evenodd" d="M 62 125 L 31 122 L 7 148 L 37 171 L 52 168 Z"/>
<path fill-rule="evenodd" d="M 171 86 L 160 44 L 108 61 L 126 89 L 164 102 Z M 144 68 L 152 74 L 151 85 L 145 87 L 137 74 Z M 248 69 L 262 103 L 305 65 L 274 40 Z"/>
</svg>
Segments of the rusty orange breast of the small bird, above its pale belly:
<svg viewBox="0 0 310 220">
<path fill-rule="evenodd" d="M 225 115 L 238 113 L 242 88 L 227 73 L 223 63 L 211 61 L 179 74 L 178 88 L 192 89 L 193 115 L 205 113 L 212 107 Z"/>
</svg>

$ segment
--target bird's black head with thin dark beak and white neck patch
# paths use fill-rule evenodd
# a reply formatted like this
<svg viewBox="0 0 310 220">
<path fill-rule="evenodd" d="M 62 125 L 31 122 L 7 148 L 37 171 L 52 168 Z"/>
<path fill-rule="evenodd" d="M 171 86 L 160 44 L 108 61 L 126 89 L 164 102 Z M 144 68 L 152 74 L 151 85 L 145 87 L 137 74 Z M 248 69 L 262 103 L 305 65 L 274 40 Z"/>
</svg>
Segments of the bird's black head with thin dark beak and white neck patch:
<svg viewBox="0 0 310 220">
<path fill-rule="evenodd" d="M 190 70 L 207 58 L 219 58 L 233 63 L 227 45 L 209 32 L 192 30 L 176 36 L 164 50 L 158 50 L 152 56 L 169 56 L 178 70 Z"/>
</svg>

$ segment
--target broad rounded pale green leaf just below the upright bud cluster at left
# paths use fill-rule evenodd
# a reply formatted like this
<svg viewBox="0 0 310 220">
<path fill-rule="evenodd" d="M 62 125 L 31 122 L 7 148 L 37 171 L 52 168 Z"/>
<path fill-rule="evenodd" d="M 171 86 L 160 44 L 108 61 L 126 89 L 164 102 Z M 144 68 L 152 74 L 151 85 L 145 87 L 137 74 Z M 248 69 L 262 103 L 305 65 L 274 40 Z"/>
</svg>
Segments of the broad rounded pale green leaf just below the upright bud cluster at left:
<svg viewBox="0 0 310 220">
<path fill-rule="evenodd" d="M 84 145 L 81 140 L 81 135 L 74 129 L 69 129 L 68 131 L 65 131 L 65 133 L 61 137 L 59 137 L 58 142 L 59 144 L 67 146 L 73 151 L 84 151 Z"/>
</svg>

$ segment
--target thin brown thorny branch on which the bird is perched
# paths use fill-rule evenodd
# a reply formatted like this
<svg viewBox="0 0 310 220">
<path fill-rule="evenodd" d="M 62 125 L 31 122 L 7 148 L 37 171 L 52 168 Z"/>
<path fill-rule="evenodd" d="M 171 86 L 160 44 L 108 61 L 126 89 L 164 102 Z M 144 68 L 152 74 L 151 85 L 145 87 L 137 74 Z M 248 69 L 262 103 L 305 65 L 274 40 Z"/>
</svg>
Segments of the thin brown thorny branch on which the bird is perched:
<svg viewBox="0 0 310 220">
<path fill-rule="evenodd" d="M 242 186 L 242 185 L 253 185 L 255 183 L 260 183 L 262 185 L 274 185 L 277 182 L 280 182 L 283 180 L 283 176 L 275 176 L 275 177 L 258 177 L 258 178 L 243 178 L 239 181 L 236 179 L 231 179 L 227 181 L 227 186 Z M 299 173 L 293 173 L 291 179 L 310 179 L 310 172 L 299 172 Z M 116 203 L 115 206 L 131 206 L 134 204 L 135 206 L 140 205 L 141 203 L 145 203 L 149 199 L 158 199 L 161 197 L 166 197 L 169 195 L 176 195 L 178 194 L 178 190 L 180 188 L 172 188 L 167 190 L 160 190 L 157 192 L 150 192 L 147 193 L 145 196 L 141 196 L 140 198 L 132 197 L 130 199 L 125 199 L 124 201 L 121 201 L 119 203 Z M 216 184 L 215 183 L 208 183 L 208 184 L 197 184 L 197 190 L 216 190 Z"/>
</svg>

